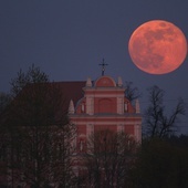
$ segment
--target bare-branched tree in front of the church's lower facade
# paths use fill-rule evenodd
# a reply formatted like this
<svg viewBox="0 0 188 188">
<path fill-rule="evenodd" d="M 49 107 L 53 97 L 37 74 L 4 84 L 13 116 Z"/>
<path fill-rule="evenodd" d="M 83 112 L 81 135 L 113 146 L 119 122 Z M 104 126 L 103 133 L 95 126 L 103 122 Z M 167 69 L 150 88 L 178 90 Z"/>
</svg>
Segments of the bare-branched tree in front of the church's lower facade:
<svg viewBox="0 0 188 188">
<path fill-rule="evenodd" d="M 135 140 L 124 133 L 107 129 L 94 133 L 83 155 L 85 184 L 96 188 L 125 187 L 136 147 Z"/>
</svg>

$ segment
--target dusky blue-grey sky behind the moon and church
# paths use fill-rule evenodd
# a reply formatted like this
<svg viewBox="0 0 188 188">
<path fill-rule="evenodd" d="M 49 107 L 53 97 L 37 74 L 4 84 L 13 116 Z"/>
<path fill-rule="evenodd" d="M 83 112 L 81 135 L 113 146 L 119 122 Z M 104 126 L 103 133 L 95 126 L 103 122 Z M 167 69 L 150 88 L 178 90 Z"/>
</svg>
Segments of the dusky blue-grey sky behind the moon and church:
<svg viewBox="0 0 188 188">
<path fill-rule="evenodd" d="M 142 72 L 130 60 L 128 40 L 149 20 L 169 21 L 188 39 L 188 0 L 0 0 L 0 92 L 9 92 L 10 80 L 32 64 L 51 81 L 95 80 L 105 59 L 106 75 L 122 76 L 143 93 L 143 112 L 153 85 L 165 91 L 167 111 L 179 97 L 188 103 L 188 58 L 165 75 Z M 188 117 L 180 130 L 188 134 Z"/>
</svg>

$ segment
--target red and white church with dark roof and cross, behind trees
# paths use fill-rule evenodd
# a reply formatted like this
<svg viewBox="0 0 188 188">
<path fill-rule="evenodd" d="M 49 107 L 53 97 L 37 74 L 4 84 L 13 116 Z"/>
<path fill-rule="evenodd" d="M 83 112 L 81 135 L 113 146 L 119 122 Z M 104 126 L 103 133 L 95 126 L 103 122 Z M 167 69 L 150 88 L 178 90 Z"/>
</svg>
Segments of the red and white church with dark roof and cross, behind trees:
<svg viewBox="0 0 188 188">
<path fill-rule="evenodd" d="M 138 143 L 142 142 L 142 115 L 140 115 L 140 109 L 139 109 L 139 103 L 138 103 L 138 100 L 136 100 L 134 104 L 132 104 L 132 102 L 129 102 L 128 98 L 125 96 L 126 88 L 123 86 L 123 82 L 121 77 L 117 77 L 117 80 L 115 81 L 112 76 L 104 75 L 104 67 L 103 67 L 102 75 L 94 81 L 88 77 L 85 81 L 56 82 L 52 84 L 56 84 L 56 86 L 59 86 L 60 90 L 63 92 L 63 95 L 61 96 L 63 96 L 64 105 L 62 106 L 60 113 L 63 113 L 65 115 L 67 114 L 70 118 L 69 119 L 70 123 L 75 125 L 76 127 L 76 132 L 77 132 L 76 138 L 75 139 L 73 138 L 74 139 L 73 143 L 71 140 L 67 140 L 67 142 L 71 143 L 71 145 L 74 144 L 74 146 L 76 146 L 77 154 L 82 154 L 86 152 L 87 138 L 90 137 L 92 133 L 95 133 L 97 130 L 109 129 L 114 133 L 124 132 L 125 134 L 133 137 L 136 142 Z M 28 88 L 25 91 L 28 92 Z M 35 97 L 33 97 L 33 102 L 35 102 L 34 100 Z M 19 106 L 20 104 L 22 105 L 22 103 L 19 103 Z M 23 104 L 28 104 L 28 101 L 27 103 L 23 103 Z M 35 105 L 35 103 L 29 103 L 29 108 L 27 109 L 33 109 L 32 105 Z M 20 113 L 21 115 L 24 115 L 24 113 L 22 114 L 22 111 L 19 111 L 19 112 L 21 112 Z M 31 114 L 33 112 L 31 111 Z M 34 111 L 34 115 L 35 115 L 35 111 Z M 31 117 L 33 116 L 31 115 Z M 30 116 L 29 116 L 29 119 L 31 119 Z M 49 176 L 52 178 L 50 180 L 52 184 L 53 181 L 56 180 L 55 179 L 56 174 L 54 174 L 58 171 L 56 168 L 58 169 L 62 168 L 62 166 L 60 166 L 59 164 L 56 165 L 56 161 L 62 161 L 60 164 L 63 165 L 63 167 L 64 165 L 66 165 L 64 158 L 61 156 L 62 154 L 61 146 L 64 149 L 64 145 L 63 145 L 64 139 L 65 139 L 64 137 L 63 137 L 63 144 L 60 142 L 55 146 L 56 143 L 54 144 L 52 140 L 50 140 L 48 146 L 50 146 L 52 142 L 53 147 L 52 145 L 51 147 L 46 147 L 46 140 L 49 138 L 48 136 L 51 134 L 46 134 L 48 135 L 46 136 L 45 132 L 43 132 L 43 128 L 41 129 L 40 126 L 34 126 L 34 127 L 25 126 L 25 128 L 29 128 L 27 129 L 28 130 L 27 133 L 29 133 L 28 134 L 29 139 L 27 137 L 25 142 L 23 142 L 23 145 L 21 145 L 22 148 L 20 147 L 20 145 L 19 147 L 14 147 L 14 145 L 11 145 L 12 142 L 10 145 L 4 145 L 6 147 L 3 148 L 3 150 L 1 147 L 1 150 L 0 150 L 1 152 L 0 153 L 1 154 L 0 155 L 0 165 L 1 165 L 0 186 L 1 187 L 2 185 L 9 185 L 13 187 L 13 185 L 17 185 L 17 184 L 22 185 L 22 187 L 23 185 L 27 185 L 24 187 L 30 187 L 30 185 L 36 184 L 38 182 L 38 181 L 35 182 L 35 179 L 36 179 L 35 171 L 38 170 L 38 168 L 35 168 L 36 163 L 44 164 L 42 170 L 41 168 L 39 168 L 39 170 L 41 170 L 40 175 L 43 176 L 44 174 L 46 174 L 46 177 Z M 35 136 L 35 133 L 36 133 L 36 136 Z M 41 138 L 40 144 L 39 144 L 39 135 Z M 1 137 L 1 139 L 3 137 Z M 6 143 L 7 137 L 4 138 L 6 139 L 4 140 L 2 139 L 2 140 Z M 25 138 L 25 135 L 23 136 L 23 140 L 24 138 Z M 55 139 L 53 140 L 56 140 L 56 137 L 54 138 Z M 34 146 L 38 146 L 36 149 Z M 49 148 L 49 150 L 46 150 L 46 148 Z M 49 157 L 46 155 L 46 154 L 50 154 L 51 152 L 52 152 L 51 154 L 54 154 L 54 150 L 55 150 L 55 155 L 53 157 Z M 23 155 L 20 155 L 20 153 Z M 40 154 L 40 155 L 35 157 L 35 154 Z M 77 156 L 82 156 L 82 155 L 73 155 L 71 156 L 71 158 L 74 158 Z M 70 156 L 67 158 L 70 158 Z M 10 168 L 9 167 L 10 165 L 8 165 L 8 163 L 11 163 L 13 165 L 17 164 L 17 166 L 14 167 L 12 165 L 12 168 Z M 55 169 L 54 171 L 53 170 L 51 171 L 52 164 L 54 165 L 54 168 L 53 168 Z M 31 168 L 31 171 L 29 170 L 30 168 Z M 48 171 L 46 169 L 50 169 L 50 170 Z M 84 171 L 85 168 L 82 168 L 82 160 L 75 160 L 73 163 L 73 170 L 75 175 L 80 175 L 80 174 L 82 175 L 82 173 L 83 174 L 85 173 Z M 52 174 L 54 174 L 55 176 L 52 176 Z M 28 181 L 28 179 L 29 180 L 31 179 L 28 177 L 30 177 L 31 179 L 34 179 L 34 178 L 35 179 L 33 182 L 32 181 L 30 182 Z M 40 184 L 42 185 L 43 182 L 41 181 Z"/>
</svg>

